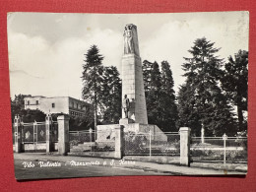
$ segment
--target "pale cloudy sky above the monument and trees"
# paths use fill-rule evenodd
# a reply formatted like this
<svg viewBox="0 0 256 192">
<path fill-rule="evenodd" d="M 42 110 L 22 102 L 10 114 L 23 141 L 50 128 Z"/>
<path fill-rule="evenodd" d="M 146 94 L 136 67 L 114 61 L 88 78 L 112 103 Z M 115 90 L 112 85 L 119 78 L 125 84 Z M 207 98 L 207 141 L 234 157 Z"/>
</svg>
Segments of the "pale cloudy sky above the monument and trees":
<svg viewBox="0 0 256 192">
<path fill-rule="evenodd" d="M 166 60 L 177 93 L 184 83 L 183 57 L 196 38 L 221 47 L 227 59 L 248 50 L 248 12 L 168 14 L 9 13 L 8 51 L 11 96 L 73 96 L 82 98 L 82 72 L 88 49 L 96 44 L 104 66 L 121 73 L 123 31 L 137 26 L 142 61 Z M 120 76 L 121 77 L 121 76 Z"/>
</svg>

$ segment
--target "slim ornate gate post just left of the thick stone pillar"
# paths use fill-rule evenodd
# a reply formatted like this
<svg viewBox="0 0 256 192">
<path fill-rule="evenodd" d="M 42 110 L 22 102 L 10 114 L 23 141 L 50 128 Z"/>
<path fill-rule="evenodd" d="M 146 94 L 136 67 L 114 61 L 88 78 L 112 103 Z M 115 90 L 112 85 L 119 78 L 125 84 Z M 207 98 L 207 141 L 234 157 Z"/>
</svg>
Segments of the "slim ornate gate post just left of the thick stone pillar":
<svg viewBox="0 0 256 192">
<path fill-rule="evenodd" d="M 52 137 L 52 118 L 50 114 L 45 117 L 45 129 L 46 129 L 46 153 L 54 152 L 54 144 Z"/>
</svg>

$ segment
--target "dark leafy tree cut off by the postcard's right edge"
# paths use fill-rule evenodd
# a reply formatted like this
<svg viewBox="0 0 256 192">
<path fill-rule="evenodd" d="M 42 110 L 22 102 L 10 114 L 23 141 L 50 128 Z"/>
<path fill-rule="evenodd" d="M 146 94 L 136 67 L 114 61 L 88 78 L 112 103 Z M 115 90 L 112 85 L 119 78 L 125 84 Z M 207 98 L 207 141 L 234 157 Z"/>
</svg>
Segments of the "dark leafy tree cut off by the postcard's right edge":
<svg viewBox="0 0 256 192">
<path fill-rule="evenodd" d="M 247 111 L 248 96 L 248 51 L 238 50 L 234 55 L 228 57 L 224 65 L 222 87 L 228 99 L 237 106 L 238 131 L 247 127 L 244 122 L 243 111 Z"/>
</svg>

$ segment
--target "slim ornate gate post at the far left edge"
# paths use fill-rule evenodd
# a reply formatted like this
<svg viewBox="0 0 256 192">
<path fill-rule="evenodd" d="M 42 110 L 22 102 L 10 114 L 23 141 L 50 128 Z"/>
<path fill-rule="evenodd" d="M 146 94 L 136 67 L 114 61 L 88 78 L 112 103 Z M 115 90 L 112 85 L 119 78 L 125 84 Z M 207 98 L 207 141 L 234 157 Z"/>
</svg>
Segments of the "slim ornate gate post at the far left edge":
<svg viewBox="0 0 256 192">
<path fill-rule="evenodd" d="M 19 115 L 15 116 L 14 119 L 14 140 L 15 140 L 15 152 L 22 152 L 22 124 Z"/>
</svg>

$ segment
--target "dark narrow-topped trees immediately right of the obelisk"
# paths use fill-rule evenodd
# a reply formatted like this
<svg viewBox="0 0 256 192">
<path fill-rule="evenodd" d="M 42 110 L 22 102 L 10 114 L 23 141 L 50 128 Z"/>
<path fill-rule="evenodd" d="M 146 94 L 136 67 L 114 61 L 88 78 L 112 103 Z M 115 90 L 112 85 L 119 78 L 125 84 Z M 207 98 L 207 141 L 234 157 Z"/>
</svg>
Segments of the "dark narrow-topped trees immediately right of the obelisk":
<svg viewBox="0 0 256 192">
<path fill-rule="evenodd" d="M 174 81 L 167 61 L 159 64 L 143 62 L 143 78 L 149 123 L 162 131 L 176 131 L 177 106 L 173 90 Z"/>
</svg>

